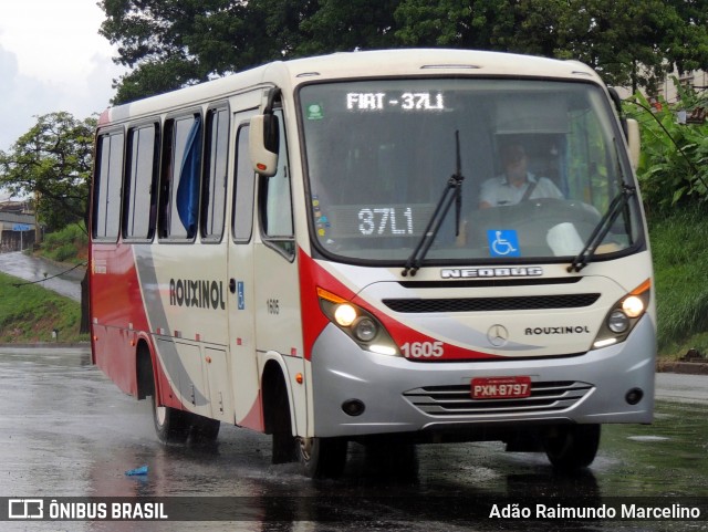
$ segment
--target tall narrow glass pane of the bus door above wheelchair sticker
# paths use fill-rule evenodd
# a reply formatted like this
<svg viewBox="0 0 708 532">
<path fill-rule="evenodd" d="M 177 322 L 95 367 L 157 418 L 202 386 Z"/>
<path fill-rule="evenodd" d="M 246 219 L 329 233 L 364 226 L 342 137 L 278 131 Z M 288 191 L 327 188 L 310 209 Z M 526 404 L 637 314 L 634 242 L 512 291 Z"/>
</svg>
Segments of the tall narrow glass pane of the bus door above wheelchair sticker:
<svg viewBox="0 0 708 532">
<path fill-rule="evenodd" d="M 248 126 L 239 128 L 236 140 L 236 186 L 231 234 L 235 242 L 248 242 L 253 231 L 253 189 L 256 171 L 248 152 Z"/>
</svg>

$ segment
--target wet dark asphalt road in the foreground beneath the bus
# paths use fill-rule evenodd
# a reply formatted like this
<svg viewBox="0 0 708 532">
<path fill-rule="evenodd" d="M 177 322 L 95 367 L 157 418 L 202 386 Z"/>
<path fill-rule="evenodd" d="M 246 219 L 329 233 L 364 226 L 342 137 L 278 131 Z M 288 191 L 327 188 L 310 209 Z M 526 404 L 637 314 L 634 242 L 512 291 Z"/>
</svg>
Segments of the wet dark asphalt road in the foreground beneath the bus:
<svg viewBox="0 0 708 532">
<path fill-rule="evenodd" d="M 0 382 L 0 497 L 228 497 L 246 515 L 230 522 L 0 522 L 3 531 L 708 530 L 707 521 L 541 526 L 478 515 L 469 507 L 529 498 L 552 504 L 558 497 L 708 497 L 708 377 L 658 375 L 655 424 L 605 427 L 597 459 L 575 478 L 554 474 L 540 455 L 464 444 L 419 447 L 417 477 L 395 480 L 378 474 L 352 445 L 344 477 L 319 482 L 293 465 L 272 466 L 270 438 L 246 429 L 222 426 L 216 448 L 160 446 L 148 401 L 123 395 L 90 364 L 87 350 L 2 347 Z M 125 474 L 143 465 L 146 476 Z M 330 501 L 314 513 L 322 521 L 303 510 L 308 501 Z"/>
</svg>

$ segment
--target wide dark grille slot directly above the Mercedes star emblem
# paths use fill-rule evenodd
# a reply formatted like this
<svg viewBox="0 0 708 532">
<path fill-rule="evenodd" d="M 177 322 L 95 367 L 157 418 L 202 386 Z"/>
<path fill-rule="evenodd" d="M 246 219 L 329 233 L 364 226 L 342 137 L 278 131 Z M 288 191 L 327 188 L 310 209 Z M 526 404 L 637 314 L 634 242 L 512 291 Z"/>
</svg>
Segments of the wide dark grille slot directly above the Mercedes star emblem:
<svg viewBox="0 0 708 532">
<path fill-rule="evenodd" d="M 383 300 L 392 311 L 421 312 L 491 312 L 549 309 L 575 309 L 590 306 L 600 294 L 518 295 L 512 298 L 457 298 L 457 299 L 395 299 Z"/>
</svg>

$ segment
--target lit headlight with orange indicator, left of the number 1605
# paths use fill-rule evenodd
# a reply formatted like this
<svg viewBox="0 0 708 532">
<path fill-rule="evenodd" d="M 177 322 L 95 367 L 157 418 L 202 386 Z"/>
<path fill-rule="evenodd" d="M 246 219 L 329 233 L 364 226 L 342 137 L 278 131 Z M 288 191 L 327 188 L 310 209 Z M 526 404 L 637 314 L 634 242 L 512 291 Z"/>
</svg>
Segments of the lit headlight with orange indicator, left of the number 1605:
<svg viewBox="0 0 708 532">
<path fill-rule="evenodd" d="M 321 288 L 317 288 L 317 295 L 324 315 L 360 347 L 382 355 L 400 356 L 398 346 L 371 312 Z"/>
</svg>

